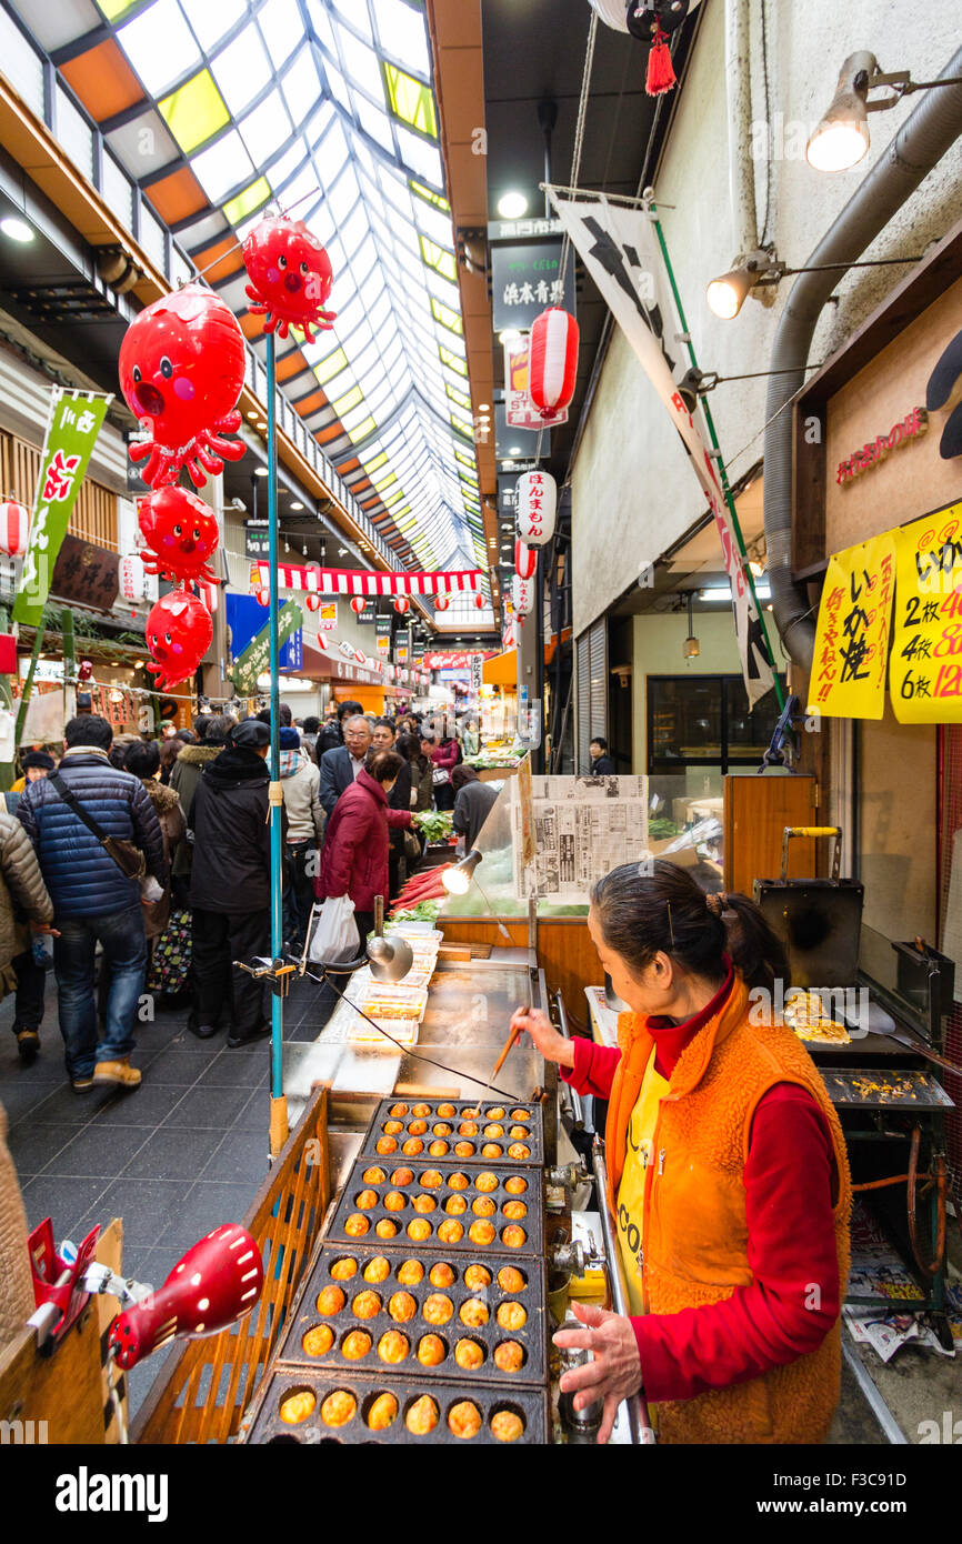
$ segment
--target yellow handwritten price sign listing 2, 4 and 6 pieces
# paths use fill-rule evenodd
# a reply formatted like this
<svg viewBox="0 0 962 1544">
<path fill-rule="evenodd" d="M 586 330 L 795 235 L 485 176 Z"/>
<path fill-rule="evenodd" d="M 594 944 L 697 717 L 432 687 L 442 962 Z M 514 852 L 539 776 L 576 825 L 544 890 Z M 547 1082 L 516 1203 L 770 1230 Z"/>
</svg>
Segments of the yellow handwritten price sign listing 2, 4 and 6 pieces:
<svg viewBox="0 0 962 1544">
<path fill-rule="evenodd" d="M 902 724 L 962 724 L 962 503 L 896 533 L 888 690 Z"/>
</svg>

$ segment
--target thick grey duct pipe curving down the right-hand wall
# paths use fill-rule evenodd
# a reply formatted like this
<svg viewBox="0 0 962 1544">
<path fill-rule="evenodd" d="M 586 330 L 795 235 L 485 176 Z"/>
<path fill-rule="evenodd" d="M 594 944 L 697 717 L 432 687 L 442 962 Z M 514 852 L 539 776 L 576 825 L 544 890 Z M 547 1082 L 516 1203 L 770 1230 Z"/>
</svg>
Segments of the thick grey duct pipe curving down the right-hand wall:
<svg viewBox="0 0 962 1544">
<path fill-rule="evenodd" d="M 940 79 L 962 73 L 962 48 Z M 879 156 L 859 191 L 821 238 L 806 267 L 855 262 L 893 215 L 962 134 L 962 90 L 930 91 Z M 815 622 L 804 585 L 792 579 L 792 443 L 788 403 L 804 383 L 812 337 L 838 272 L 801 273 L 778 321 L 769 367 L 764 431 L 764 536 L 772 611 L 781 641 L 795 661 L 811 667 Z"/>
</svg>

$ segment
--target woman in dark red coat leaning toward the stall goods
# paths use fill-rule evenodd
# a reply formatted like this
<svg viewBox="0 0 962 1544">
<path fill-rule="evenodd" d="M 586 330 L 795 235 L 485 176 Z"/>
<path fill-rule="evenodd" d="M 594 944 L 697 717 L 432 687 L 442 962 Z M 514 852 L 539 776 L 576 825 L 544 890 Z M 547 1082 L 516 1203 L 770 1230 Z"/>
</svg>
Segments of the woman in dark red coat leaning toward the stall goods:
<svg viewBox="0 0 962 1544">
<path fill-rule="evenodd" d="M 388 809 L 401 770 L 397 750 L 381 750 L 344 789 L 324 831 L 318 900 L 351 896 L 361 948 L 374 926 L 374 897 L 388 897 L 388 828 L 409 829 L 411 811 Z"/>
</svg>

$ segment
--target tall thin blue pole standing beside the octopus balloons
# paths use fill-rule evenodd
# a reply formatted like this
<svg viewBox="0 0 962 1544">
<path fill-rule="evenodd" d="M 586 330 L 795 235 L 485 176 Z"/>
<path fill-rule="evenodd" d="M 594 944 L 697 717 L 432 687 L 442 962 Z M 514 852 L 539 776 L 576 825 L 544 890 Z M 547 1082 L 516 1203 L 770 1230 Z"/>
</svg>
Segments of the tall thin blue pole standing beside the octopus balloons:
<svg viewBox="0 0 962 1544">
<path fill-rule="evenodd" d="M 267 334 L 267 542 L 270 564 L 270 954 L 281 959 L 284 948 L 283 886 L 284 852 L 281 815 L 281 682 L 278 678 L 278 443 L 276 443 L 276 361 L 273 332 Z M 284 1098 L 284 999 L 279 984 L 270 994 L 270 1156 L 276 1158 L 287 1141 L 287 1101 Z"/>
</svg>

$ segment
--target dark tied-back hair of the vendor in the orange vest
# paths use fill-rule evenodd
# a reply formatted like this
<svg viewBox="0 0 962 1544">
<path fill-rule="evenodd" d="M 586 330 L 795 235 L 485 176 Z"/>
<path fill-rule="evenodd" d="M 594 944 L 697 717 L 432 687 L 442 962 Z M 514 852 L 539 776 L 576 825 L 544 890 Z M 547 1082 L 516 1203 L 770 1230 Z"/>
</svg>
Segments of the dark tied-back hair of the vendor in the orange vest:
<svg viewBox="0 0 962 1544">
<path fill-rule="evenodd" d="M 686 869 L 667 858 L 622 863 L 599 879 L 591 905 L 602 937 L 633 976 L 662 951 L 683 970 L 724 980 L 729 954 L 747 987 L 789 985 L 784 945 L 747 896 L 706 896 Z"/>
</svg>

